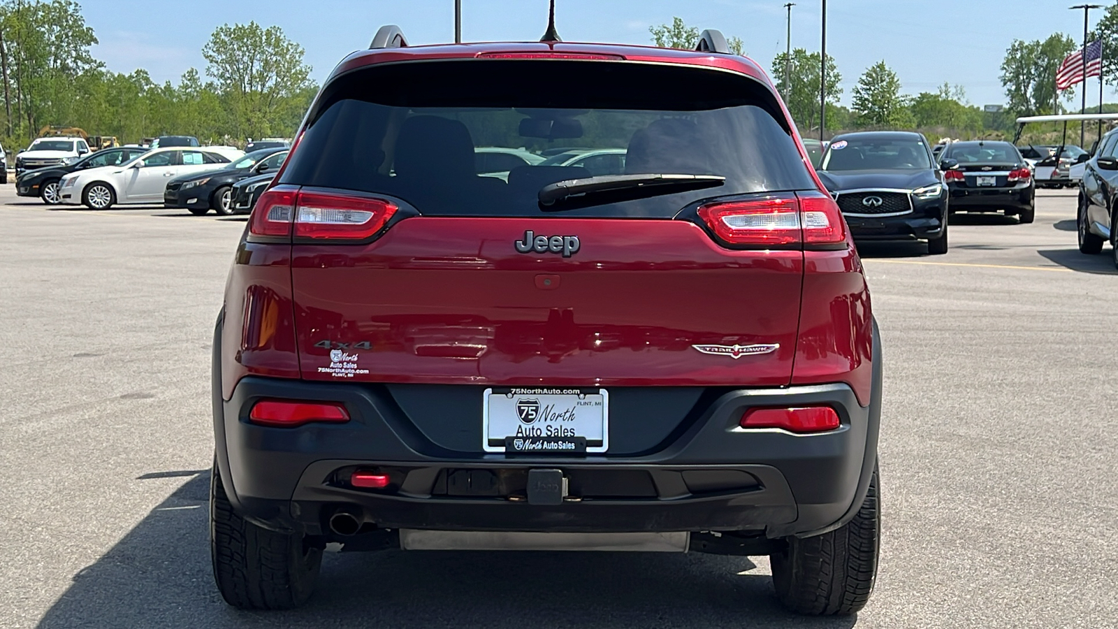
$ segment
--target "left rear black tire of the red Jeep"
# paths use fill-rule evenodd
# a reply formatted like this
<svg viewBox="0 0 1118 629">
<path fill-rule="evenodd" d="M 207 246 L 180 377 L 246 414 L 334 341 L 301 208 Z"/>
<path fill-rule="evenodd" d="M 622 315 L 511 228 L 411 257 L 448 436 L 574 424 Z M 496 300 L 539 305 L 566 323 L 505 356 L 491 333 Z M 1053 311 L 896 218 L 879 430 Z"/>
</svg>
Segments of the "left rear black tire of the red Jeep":
<svg viewBox="0 0 1118 629">
<path fill-rule="evenodd" d="M 241 518 L 216 464 L 210 473 L 210 557 L 221 598 L 239 609 L 292 609 L 306 602 L 319 579 L 322 548 L 307 545 L 302 535 Z"/>
</svg>

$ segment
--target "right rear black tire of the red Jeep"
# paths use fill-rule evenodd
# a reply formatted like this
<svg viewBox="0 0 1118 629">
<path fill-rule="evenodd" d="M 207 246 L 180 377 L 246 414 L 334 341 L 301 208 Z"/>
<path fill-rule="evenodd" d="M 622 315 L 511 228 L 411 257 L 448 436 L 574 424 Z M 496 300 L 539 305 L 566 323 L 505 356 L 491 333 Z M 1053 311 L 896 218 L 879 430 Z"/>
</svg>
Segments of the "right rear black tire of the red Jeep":
<svg viewBox="0 0 1118 629">
<path fill-rule="evenodd" d="M 847 616 L 870 600 L 881 545 L 878 467 L 854 519 L 816 537 L 790 538 L 769 556 L 773 585 L 786 608 L 808 616 Z"/>
</svg>

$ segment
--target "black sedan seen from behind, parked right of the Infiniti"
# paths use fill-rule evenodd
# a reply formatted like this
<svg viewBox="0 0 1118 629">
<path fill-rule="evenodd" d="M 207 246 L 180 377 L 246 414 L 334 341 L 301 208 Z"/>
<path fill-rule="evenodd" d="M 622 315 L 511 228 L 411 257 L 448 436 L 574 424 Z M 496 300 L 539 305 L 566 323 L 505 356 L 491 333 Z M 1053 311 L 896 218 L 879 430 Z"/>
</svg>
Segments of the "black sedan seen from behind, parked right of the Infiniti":
<svg viewBox="0 0 1118 629">
<path fill-rule="evenodd" d="M 940 156 L 951 193 L 951 213 L 1002 212 L 1032 223 L 1035 214 L 1033 172 L 1010 142 L 953 142 Z"/>
</svg>

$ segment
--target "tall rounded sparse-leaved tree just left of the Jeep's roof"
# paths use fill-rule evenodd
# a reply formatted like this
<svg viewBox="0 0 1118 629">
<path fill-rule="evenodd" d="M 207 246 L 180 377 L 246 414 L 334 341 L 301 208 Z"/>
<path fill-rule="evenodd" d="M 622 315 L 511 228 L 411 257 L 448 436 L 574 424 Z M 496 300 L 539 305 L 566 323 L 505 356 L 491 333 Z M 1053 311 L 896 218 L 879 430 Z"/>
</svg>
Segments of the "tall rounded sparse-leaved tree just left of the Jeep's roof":
<svg viewBox="0 0 1118 629">
<path fill-rule="evenodd" d="M 209 75 L 226 103 L 230 131 L 238 137 L 287 131 L 278 121 L 305 111 L 312 92 L 304 49 L 277 27 L 224 25 L 202 48 Z"/>
</svg>

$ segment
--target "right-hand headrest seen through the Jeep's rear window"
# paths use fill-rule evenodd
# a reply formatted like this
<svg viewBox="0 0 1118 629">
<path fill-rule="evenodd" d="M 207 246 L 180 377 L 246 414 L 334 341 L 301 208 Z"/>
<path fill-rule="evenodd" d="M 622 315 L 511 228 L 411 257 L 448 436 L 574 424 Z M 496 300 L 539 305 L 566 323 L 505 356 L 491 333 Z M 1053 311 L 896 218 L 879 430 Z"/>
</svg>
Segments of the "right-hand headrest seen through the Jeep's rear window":
<svg viewBox="0 0 1118 629">
<path fill-rule="evenodd" d="M 633 134 L 625 172 L 707 173 L 710 172 L 708 153 L 694 122 L 666 118 Z"/>
</svg>

